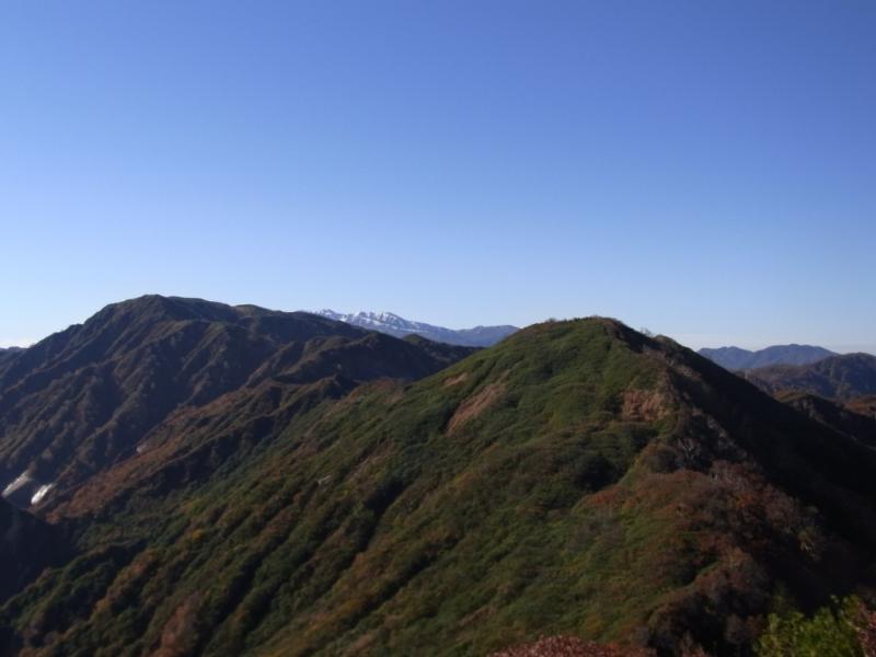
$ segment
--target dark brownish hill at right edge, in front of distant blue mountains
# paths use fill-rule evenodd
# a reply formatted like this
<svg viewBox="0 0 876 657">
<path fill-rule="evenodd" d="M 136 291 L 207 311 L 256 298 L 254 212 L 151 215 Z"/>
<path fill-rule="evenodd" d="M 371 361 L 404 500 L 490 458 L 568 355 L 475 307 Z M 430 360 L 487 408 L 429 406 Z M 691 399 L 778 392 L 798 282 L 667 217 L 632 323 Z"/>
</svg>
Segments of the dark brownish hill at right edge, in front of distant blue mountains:
<svg viewBox="0 0 876 657">
<path fill-rule="evenodd" d="M 803 366 L 773 366 L 745 372 L 771 393 L 798 391 L 842 401 L 876 394 L 876 356 L 845 354 Z"/>
</svg>

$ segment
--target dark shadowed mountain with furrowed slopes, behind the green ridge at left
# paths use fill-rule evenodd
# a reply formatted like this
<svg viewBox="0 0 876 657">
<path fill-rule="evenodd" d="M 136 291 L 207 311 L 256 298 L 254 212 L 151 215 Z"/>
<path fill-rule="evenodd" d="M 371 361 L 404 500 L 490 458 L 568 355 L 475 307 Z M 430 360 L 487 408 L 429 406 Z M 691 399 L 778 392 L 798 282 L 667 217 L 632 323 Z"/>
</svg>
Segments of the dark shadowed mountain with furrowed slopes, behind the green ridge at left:
<svg viewBox="0 0 876 657">
<path fill-rule="evenodd" d="M 416 379 L 469 351 L 308 313 L 143 297 L 0 361 L 0 486 L 20 507 L 62 497 L 230 393 L 334 378 L 333 394 Z"/>
</svg>

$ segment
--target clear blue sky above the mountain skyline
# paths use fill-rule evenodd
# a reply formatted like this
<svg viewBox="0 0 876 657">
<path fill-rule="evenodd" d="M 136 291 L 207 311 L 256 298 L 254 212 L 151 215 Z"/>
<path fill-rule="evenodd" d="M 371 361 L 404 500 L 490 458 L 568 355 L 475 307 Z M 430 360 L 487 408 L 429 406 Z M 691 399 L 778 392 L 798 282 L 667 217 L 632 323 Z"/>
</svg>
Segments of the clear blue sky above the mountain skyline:
<svg viewBox="0 0 876 657">
<path fill-rule="evenodd" d="M 0 345 L 146 292 L 876 350 L 876 2 L 0 4 Z"/>
</svg>

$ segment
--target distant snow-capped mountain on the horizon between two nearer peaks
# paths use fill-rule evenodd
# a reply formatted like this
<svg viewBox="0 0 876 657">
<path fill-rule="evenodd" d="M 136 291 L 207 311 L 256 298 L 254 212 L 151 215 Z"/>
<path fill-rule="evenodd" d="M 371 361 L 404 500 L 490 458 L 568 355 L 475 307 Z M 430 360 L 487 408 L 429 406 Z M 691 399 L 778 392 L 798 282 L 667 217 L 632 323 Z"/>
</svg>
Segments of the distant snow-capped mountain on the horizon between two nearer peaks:
<svg viewBox="0 0 876 657">
<path fill-rule="evenodd" d="M 425 322 L 405 320 L 392 312 L 342 313 L 325 309 L 319 311 L 316 314 L 337 322 L 346 322 L 347 324 L 361 326 L 369 331 L 389 333 L 395 337 L 416 334 L 435 342 L 462 345 L 465 347 L 489 347 L 515 331 L 518 331 L 517 326 L 510 325 L 475 326 L 474 328 L 461 330 L 446 328 L 445 326 L 435 326 L 433 324 L 426 324 Z"/>
</svg>

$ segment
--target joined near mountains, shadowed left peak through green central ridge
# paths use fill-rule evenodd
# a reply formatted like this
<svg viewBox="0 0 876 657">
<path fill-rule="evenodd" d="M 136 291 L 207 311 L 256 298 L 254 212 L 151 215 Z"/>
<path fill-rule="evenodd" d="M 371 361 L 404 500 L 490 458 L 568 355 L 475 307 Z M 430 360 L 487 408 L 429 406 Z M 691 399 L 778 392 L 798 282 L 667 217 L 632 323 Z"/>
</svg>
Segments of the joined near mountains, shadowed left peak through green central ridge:
<svg viewBox="0 0 876 657">
<path fill-rule="evenodd" d="M 0 360 L 0 654 L 751 655 L 876 585 L 874 424 L 604 318 L 113 304 Z"/>
</svg>

